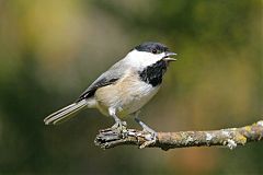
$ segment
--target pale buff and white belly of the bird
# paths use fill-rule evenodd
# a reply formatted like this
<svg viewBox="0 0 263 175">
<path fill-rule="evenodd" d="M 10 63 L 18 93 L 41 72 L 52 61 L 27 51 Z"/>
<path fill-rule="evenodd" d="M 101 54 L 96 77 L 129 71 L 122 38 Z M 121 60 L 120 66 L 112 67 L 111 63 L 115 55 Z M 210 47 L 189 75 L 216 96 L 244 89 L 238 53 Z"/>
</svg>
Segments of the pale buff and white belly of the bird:
<svg viewBox="0 0 263 175">
<path fill-rule="evenodd" d="M 118 117 L 139 110 L 158 92 L 159 86 L 139 81 L 138 78 L 125 78 L 121 82 L 99 89 L 95 92 L 98 108 L 108 115 L 108 108 L 115 108 Z"/>
</svg>

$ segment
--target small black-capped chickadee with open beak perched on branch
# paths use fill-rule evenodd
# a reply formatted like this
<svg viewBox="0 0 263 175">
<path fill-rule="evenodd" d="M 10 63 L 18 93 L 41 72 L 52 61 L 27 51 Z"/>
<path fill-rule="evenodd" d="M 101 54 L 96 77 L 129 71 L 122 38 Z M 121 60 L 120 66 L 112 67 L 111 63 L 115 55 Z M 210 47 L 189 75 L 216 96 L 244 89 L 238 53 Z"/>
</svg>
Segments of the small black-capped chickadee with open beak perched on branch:
<svg viewBox="0 0 263 175">
<path fill-rule="evenodd" d="M 145 42 L 134 47 L 123 59 L 102 73 L 72 104 L 50 114 L 45 125 L 57 125 L 84 108 L 96 108 L 115 120 L 112 128 L 122 128 L 121 120 L 134 116 L 145 131 L 155 139 L 157 132 L 142 122 L 140 109 L 157 94 L 163 75 L 175 52 L 161 43 Z"/>
</svg>

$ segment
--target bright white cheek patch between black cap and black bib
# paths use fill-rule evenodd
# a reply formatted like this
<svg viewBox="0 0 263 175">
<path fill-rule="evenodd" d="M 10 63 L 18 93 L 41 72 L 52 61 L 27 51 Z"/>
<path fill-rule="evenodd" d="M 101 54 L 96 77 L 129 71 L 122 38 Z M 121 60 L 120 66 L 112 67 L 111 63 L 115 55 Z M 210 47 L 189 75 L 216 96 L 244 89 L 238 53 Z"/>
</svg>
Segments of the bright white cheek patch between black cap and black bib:
<svg viewBox="0 0 263 175">
<path fill-rule="evenodd" d="M 153 65 L 157 61 L 161 60 L 164 57 L 162 54 L 151 54 L 147 51 L 133 50 L 126 57 L 127 63 L 138 68 L 145 68 L 147 66 Z"/>
</svg>

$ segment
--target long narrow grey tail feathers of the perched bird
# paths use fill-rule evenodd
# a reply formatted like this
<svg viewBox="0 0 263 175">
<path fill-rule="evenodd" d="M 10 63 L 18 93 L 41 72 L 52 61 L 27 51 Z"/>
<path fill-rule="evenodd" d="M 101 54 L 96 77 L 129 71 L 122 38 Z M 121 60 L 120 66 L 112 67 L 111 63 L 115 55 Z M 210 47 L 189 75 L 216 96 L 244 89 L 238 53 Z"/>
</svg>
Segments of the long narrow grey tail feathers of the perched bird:
<svg viewBox="0 0 263 175">
<path fill-rule="evenodd" d="M 46 125 L 57 125 L 60 124 L 71 117 L 73 117 L 77 112 L 81 110 L 87 106 L 87 101 L 82 100 L 80 102 L 68 105 L 60 110 L 57 110 L 44 119 Z"/>
</svg>

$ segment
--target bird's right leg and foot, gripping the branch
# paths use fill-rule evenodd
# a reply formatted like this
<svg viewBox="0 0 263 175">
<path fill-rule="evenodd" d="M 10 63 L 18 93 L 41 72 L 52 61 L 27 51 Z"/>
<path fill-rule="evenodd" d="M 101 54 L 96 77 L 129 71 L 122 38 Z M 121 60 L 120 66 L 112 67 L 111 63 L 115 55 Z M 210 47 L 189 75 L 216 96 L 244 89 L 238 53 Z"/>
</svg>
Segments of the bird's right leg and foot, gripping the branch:
<svg viewBox="0 0 263 175">
<path fill-rule="evenodd" d="M 142 143 L 142 144 L 139 147 L 140 149 L 142 149 L 142 148 L 145 148 L 145 147 L 147 147 L 147 145 L 150 145 L 150 144 L 152 144 L 152 143 L 155 143 L 155 142 L 157 141 L 157 132 L 156 132 L 153 129 L 151 129 L 150 127 L 148 127 L 145 122 L 142 122 L 142 121 L 138 118 L 138 114 L 139 114 L 139 112 L 136 112 L 136 113 L 135 113 L 135 121 L 138 122 L 138 124 L 142 127 L 142 129 L 144 129 L 142 131 L 150 133 L 150 137 L 149 137 L 149 138 L 146 138 L 146 139 L 149 140 L 149 141 Z"/>
</svg>

